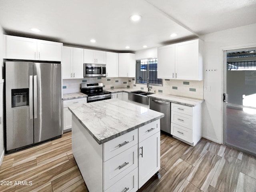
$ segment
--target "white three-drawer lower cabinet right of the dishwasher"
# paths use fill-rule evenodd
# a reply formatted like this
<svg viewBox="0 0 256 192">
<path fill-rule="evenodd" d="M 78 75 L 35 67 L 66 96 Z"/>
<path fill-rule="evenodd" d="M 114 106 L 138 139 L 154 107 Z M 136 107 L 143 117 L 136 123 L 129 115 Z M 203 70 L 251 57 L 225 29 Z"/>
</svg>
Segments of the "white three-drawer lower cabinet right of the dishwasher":
<svg viewBox="0 0 256 192">
<path fill-rule="evenodd" d="M 195 146 L 202 137 L 201 106 L 184 106 L 171 103 L 171 134 Z"/>
</svg>

